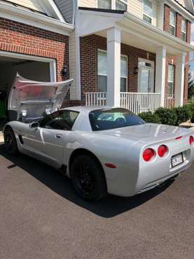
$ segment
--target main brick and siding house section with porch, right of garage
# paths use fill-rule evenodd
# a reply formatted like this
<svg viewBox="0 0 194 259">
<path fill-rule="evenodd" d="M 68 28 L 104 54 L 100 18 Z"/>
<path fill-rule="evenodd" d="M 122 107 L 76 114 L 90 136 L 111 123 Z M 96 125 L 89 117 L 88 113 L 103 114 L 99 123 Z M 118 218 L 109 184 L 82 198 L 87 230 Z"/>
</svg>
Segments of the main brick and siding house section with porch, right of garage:
<svg viewBox="0 0 194 259">
<path fill-rule="evenodd" d="M 135 113 L 188 99 L 192 0 L 55 0 L 75 25 L 70 100 Z"/>
</svg>

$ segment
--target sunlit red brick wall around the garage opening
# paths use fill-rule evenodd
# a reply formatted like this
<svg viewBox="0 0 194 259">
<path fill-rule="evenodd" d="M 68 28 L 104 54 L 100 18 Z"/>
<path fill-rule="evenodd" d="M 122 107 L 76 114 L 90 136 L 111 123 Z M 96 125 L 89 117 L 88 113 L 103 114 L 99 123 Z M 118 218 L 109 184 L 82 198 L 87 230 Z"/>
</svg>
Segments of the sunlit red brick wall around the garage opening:
<svg viewBox="0 0 194 259">
<path fill-rule="evenodd" d="M 69 71 L 61 74 L 64 64 L 69 67 L 68 36 L 0 18 L 0 50 L 56 59 L 57 80 L 69 78 Z"/>
</svg>

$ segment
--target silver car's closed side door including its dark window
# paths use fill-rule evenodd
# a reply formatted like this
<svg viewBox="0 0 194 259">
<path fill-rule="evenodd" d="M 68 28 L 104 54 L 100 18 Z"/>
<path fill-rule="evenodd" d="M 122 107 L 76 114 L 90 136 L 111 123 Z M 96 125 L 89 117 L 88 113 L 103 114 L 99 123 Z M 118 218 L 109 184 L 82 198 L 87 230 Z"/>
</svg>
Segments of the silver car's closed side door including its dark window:
<svg viewBox="0 0 194 259">
<path fill-rule="evenodd" d="M 25 132 L 24 144 L 34 156 L 52 165 L 61 167 L 68 135 L 78 113 L 61 110 L 46 116 L 40 127 L 30 128 Z"/>
</svg>

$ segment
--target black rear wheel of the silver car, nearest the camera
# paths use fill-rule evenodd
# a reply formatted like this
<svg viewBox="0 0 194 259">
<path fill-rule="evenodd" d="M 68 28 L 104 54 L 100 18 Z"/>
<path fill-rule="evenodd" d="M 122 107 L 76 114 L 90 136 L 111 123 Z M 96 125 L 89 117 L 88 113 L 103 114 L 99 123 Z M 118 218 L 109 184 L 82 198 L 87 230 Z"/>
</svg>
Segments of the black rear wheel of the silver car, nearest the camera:
<svg viewBox="0 0 194 259">
<path fill-rule="evenodd" d="M 71 165 L 71 181 L 85 200 L 97 201 L 106 194 L 106 180 L 99 162 L 90 155 L 78 155 Z"/>
</svg>

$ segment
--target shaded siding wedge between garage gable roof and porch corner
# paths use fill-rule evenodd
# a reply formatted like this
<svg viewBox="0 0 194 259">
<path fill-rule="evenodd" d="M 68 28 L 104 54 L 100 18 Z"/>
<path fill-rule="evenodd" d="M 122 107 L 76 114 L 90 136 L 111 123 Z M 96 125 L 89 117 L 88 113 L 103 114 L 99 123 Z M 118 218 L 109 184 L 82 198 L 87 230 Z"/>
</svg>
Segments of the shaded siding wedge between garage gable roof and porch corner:
<svg viewBox="0 0 194 259">
<path fill-rule="evenodd" d="M 74 18 L 74 1 L 72 0 L 55 0 L 66 22 L 73 23 Z"/>
</svg>

